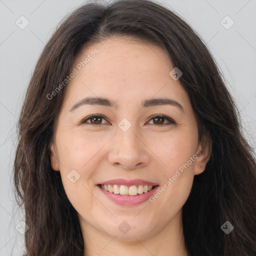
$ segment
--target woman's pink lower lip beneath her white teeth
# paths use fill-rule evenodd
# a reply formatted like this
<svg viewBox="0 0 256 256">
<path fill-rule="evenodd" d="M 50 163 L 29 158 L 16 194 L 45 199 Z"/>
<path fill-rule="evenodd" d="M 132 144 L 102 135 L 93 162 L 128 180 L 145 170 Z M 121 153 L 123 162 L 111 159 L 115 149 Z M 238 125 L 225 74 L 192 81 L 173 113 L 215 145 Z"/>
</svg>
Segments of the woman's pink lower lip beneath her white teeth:
<svg viewBox="0 0 256 256">
<path fill-rule="evenodd" d="M 155 193 L 157 186 L 151 189 L 149 192 L 137 194 L 137 195 L 120 195 L 106 191 L 105 189 L 97 186 L 102 193 L 104 193 L 110 200 L 120 205 L 137 205 L 146 201 L 153 193 Z"/>
</svg>

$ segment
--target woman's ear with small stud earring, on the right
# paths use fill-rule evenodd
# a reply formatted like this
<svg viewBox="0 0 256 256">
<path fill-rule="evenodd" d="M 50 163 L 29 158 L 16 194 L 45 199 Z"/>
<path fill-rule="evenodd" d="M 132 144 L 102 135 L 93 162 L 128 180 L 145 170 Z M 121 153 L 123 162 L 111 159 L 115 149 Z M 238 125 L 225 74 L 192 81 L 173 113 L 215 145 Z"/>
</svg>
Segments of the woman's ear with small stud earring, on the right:
<svg viewBox="0 0 256 256">
<path fill-rule="evenodd" d="M 211 140 L 209 136 L 204 136 L 197 146 L 197 159 L 194 165 L 194 175 L 202 173 L 211 155 Z"/>
</svg>

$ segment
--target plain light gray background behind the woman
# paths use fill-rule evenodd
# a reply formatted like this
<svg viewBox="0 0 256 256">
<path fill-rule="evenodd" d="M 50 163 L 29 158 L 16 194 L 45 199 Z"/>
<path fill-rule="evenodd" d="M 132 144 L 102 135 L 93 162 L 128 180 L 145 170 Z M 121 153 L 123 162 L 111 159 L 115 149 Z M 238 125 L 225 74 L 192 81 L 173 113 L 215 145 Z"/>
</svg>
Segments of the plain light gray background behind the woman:
<svg viewBox="0 0 256 256">
<path fill-rule="evenodd" d="M 22 235 L 15 226 L 12 164 L 16 121 L 32 70 L 57 23 L 84 0 L 0 0 L 0 256 L 21 255 Z M 223 72 L 236 100 L 244 133 L 255 150 L 256 141 L 256 0 L 165 0 L 203 38 Z M 21 16 L 29 24 L 20 29 Z M 234 24 L 225 29 L 226 16 Z M 229 24 L 228 20 L 224 21 Z M 207 107 L 207 106 L 205 106 Z"/>
</svg>

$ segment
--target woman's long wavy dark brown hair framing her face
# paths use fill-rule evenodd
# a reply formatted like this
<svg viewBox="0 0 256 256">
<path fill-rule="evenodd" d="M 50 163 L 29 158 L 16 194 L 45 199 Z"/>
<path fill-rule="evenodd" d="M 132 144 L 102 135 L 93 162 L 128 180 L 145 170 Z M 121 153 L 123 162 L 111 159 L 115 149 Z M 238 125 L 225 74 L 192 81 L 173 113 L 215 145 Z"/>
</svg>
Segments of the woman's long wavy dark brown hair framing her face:
<svg viewBox="0 0 256 256">
<path fill-rule="evenodd" d="M 149 0 L 86 3 L 58 26 L 32 74 L 18 121 L 14 160 L 16 200 L 25 209 L 29 256 L 83 255 L 77 212 L 59 172 L 50 164 L 49 143 L 69 74 L 86 42 L 113 35 L 136 36 L 168 54 L 198 120 L 199 138 L 212 143 L 205 170 L 194 176 L 182 209 L 185 244 L 192 256 L 256 255 L 256 174 L 254 152 L 244 139 L 235 103 L 213 56 L 200 36 L 174 11 Z M 68 86 L 68 85 L 66 85 Z M 234 229 L 225 234 L 220 226 Z"/>
</svg>

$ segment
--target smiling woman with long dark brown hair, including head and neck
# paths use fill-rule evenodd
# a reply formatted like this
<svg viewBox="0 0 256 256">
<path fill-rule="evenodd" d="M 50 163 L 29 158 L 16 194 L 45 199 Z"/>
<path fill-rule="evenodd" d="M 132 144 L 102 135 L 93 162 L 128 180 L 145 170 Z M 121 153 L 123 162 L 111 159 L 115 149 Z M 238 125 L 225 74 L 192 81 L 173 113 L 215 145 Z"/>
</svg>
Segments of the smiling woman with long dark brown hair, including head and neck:
<svg viewBox="0 0 256 256">
<path fill-rule="evenodd" d="M 27 255 L 255 255 L 255 165 L 187 23 L 149 0 L 84 4 L 44 47 L 19 118 Z"/>
</svg>

